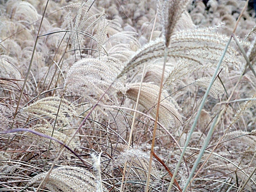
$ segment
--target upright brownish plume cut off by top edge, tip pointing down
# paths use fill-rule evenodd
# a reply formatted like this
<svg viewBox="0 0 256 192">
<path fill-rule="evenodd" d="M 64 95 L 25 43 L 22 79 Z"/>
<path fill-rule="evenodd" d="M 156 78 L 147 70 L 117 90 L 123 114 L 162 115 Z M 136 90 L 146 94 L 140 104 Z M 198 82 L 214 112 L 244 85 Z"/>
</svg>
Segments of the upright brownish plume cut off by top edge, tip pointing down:
<svg viewBox="0 0 256 192">
<path fill-rule="evenodd" d="M 164 1 L 162 10 L 162 25 L 166 47 L 170 45 L 170 37 L 172 36 L 176 24 L 188 3 L 188 0 Z"/>
</svg>

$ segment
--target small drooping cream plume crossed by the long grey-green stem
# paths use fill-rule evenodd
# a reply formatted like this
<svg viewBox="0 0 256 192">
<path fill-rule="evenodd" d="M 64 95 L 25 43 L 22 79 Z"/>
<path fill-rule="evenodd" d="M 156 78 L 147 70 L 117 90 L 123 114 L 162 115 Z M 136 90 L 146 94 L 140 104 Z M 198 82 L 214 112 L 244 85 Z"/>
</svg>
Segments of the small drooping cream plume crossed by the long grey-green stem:
<svg viewBox="0 0 256 192">
<path fill-rule="evenodd" d="M 199 86 L 204 91 L 207 90 L 207 87 L 209 86 L 211 82 L 211 78 L 203 77 L 200 79 L 197 79 L 195 82 L 193 82 L 191 85 Z M 217 80 L 212 84 L 211 90 L 209 92 L 209 95 L 213 97 L 214 99 L 218 99 L 224 94 L 224 88 L 221 83 L 219 83 Z"/>
</svg>

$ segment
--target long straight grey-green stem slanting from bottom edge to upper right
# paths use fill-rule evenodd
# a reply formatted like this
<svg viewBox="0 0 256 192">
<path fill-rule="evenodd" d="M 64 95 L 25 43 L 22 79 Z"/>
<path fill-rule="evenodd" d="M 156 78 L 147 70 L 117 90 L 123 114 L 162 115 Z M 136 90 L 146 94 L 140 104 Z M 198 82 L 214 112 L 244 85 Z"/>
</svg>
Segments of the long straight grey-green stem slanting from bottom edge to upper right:
<svg viewBox="0 0 256 192">
<path fill-rule="evenodd" d="M 172 177 L 172 180 L 171 180 L 171 182 L 170 182 L 170 185 L 169 185 L 169 188 L 168 188 L 167 192 L 170 192 L 170 190 L 171 190 L 171 188 L 172 188 L 172 184 L 173 184 L 174 178 L 175 178 L 175 176 L 176 176 L 176 174 L 177 174 L 177 172 L 178 172 L 178 168 L 180 167 L 180 163 L 181 163 L 181 161 L 182 161 L 183 155 L 185 154 L 186 148 L 188 147 L 188 144 L 189 144 L 189 141 L 190 141 L 190 139 L 191 139 L 192 133 L 193 133 L 195 127 L 196 127 L 197 121 L 198 121 L 199 116 L 200 116 L 200 114 L 201 114 L 201 112 L 202 112 L 204 103 L 206 102 L 206 99 L 207 99 L 207 96 L 208 96 L 208 94 L 209 94 L 209 92 L 210 92 L 211 86 L 212 86 L 212 84 L 214 83 L 214 80 L 215 80 L 216 75 L 218 74 L 219 68 L 221 67 L 222 60 L 223 60 L 223 58 L 224 58 L 224 56 L 225 56 L 225 54 L 226 54 L 226 51 L 227 51 L 227 48 L 228 48 L 230 42 L 231 42 L 231 38 L 232 38 L 232 37 L 230 36 L 229 41 L 227 42 L 226 47 L 225 47 L 225 49 L 224 49 L 224 51 L 223 51 L 223 53 L 222 53 L 221 59 L 219 60 L 219 63 L 218 63 L 218 65 L 217 65 L 216 69 L 215 69 L 214 75 L 212 75 L 210 85 L 208 86 L 208 88 L 207 88 L 207 90 L 206 90 L 206 93 L 204 94 L 204 97 L 203 97 L 203 99 L 202 99 L 200 108 L 199 108 L 199 110 L 198 110 L 198 112 L 197 112 L 197 114 L 196 114 L 195 121 L 193 122 L 193 125 L 192 125 L 192 127 L 191 127 L 191 129 L 190 129 L 190 132 L 189 132 L 189 134 L 188 134 L 188 138 L 187 138 L 187 140 L 186 140 L 186 142 L 185 142 L 184 148 L 183 148 L 183 150 L 182 150 L 182 152 L 181 152 L 180 158 L 179 158 L 178 163 L 177 163 L 177 165 L 176 165 L 176 168 L 175 168 L 175 170 L 174 170 L 173 177 Z"/>
</svg>

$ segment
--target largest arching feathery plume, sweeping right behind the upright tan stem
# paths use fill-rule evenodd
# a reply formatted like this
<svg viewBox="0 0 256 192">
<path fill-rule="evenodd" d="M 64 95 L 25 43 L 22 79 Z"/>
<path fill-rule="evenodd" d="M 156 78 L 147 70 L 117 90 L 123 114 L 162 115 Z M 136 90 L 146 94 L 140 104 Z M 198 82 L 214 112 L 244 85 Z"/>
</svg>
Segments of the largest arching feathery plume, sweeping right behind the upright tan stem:
<svg viewBox="0 0 256 192">
<path fill-rule="evenodd" d="M 228 38 L 224 35 L 214 33 L 214 28 L 189 29 L 175 33 L 170 38 L 167 56 L 175 59 L 187 60 L 193 64 L 205 65 L 206 63 L 218 62 Z M 159 38 L 150 42 L 136 52 L 132 59 L 127 62 L 117 76 L 122 77 L 136 67 L 141 67 L 153 59 L 163 58 L 165 45 L 163 39 Z M 224 64 L 237 66 L 236 50 L 228 48 L 223 59 Z M 139 70 L 139 69 L 138 69 Z"/>
</svg>

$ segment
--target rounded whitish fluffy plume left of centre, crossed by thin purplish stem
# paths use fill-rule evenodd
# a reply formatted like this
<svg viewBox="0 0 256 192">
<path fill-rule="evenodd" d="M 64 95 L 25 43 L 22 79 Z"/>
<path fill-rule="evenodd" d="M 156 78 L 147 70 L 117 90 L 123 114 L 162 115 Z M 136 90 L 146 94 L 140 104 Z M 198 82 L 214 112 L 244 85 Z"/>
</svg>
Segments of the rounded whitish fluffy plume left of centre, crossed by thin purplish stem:
<svg viewBox="0 0 256 192">
<path fill-rule="evenodd" d="M 115 72 L 117 68 L 111 60 L 101 62 L 93 58 L 81 59 L 69 69 L 65 84 L 68 91 L 83 95 L 94 105 L 107 87 L 112 84 Z M 112 87 L 118 89 L 116 86 Z M 108 91 L 101 102 L 107 105 L 112 105 L 113 102 L 118 103 L 117 98 L 112 94 L 113 91 L 113 89 Z"/>
</svg>

